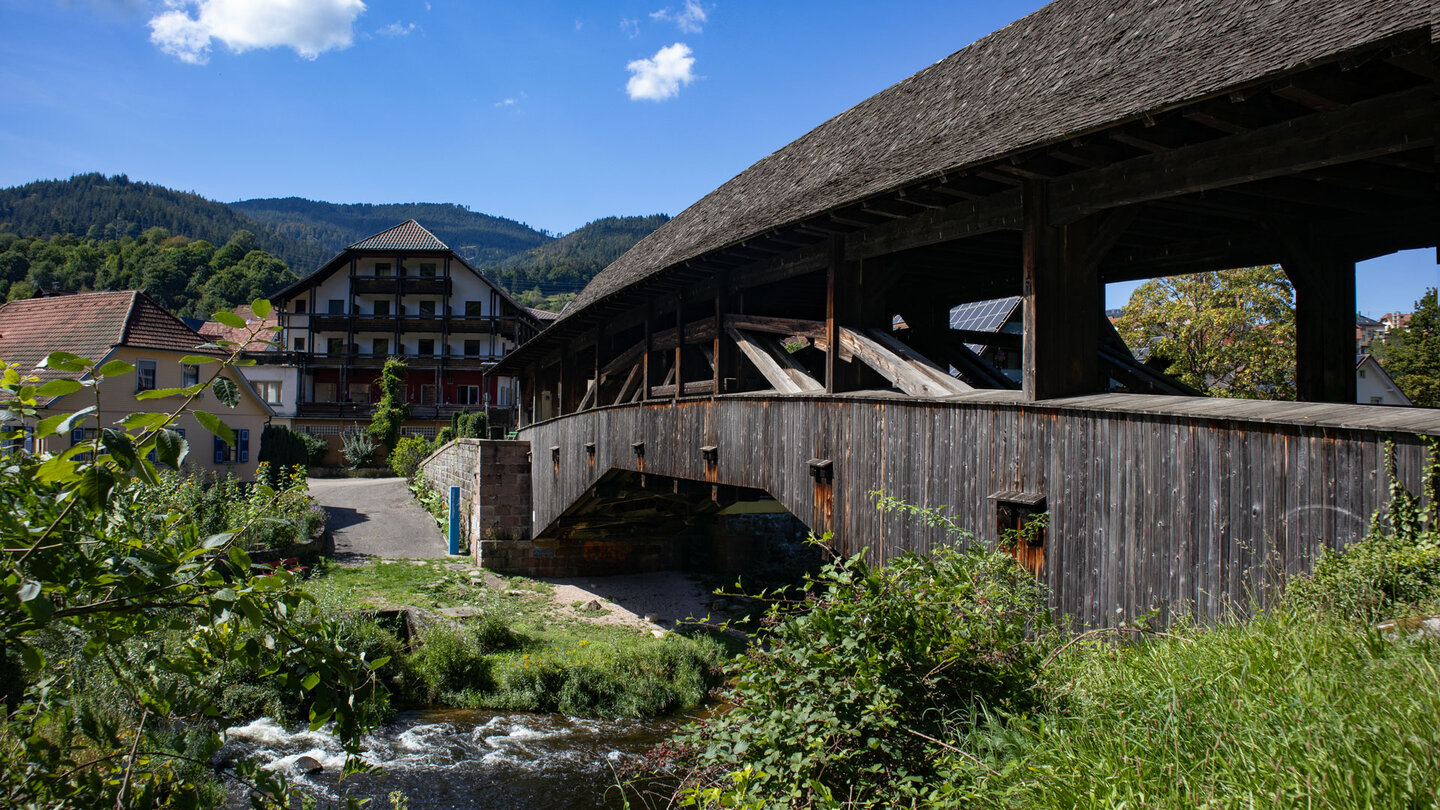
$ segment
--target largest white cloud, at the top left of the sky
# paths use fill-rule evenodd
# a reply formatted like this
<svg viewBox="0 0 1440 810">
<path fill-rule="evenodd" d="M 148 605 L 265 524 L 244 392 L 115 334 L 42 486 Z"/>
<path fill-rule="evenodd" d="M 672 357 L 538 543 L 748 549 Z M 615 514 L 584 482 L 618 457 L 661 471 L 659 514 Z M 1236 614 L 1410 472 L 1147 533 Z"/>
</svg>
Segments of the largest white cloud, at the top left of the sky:
<svg viewBox="0 0 1440 810">
<path fill-rule="evenodd" d="M 166 0 L 150 19 L 150 42 L 192 65 L 210 59 L 212 40 L 243 53 L 291 48 L 305 59 L 350 48 L 363 0 Z"/>
</svg>

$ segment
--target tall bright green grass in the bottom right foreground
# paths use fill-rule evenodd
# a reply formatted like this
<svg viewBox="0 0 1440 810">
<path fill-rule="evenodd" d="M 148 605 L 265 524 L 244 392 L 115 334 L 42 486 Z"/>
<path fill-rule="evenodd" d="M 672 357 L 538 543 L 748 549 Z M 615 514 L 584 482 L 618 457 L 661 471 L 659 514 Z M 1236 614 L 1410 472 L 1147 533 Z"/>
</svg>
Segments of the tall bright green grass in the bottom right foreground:
<svg viewBox="0 0 1440 810">
<path fill-rule="evenodd" d="M 1440 643 L 1276 610 L 1076 646 L 1047 713 L 950 739 L 943 806 L 1434 807 Z M 939 798 L 939 797 L 937 797 Z"/>
</svg>

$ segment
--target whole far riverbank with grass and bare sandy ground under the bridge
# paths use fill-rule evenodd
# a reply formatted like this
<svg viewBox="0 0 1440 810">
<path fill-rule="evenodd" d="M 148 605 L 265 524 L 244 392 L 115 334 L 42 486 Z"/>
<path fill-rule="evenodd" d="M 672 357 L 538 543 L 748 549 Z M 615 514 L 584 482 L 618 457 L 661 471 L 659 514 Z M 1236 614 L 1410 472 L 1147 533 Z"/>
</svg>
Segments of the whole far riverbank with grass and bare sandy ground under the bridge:
<svg viewBox="0 0 1440 810">
<path fill-rule="evenodd" d="M 367 626 L 360 636 L 395 637 L 380 675 L 396 708 L 647 718 L 700 706 L 742 643 L 685 621 L 704 617 L 691 610 L 707 607 L 697 582 L 622 579 L 556 584 L 415 559 L 323 565 L 307 589 Z M 403 627 L 379 611 L 403 613 Z"/>
</svg>

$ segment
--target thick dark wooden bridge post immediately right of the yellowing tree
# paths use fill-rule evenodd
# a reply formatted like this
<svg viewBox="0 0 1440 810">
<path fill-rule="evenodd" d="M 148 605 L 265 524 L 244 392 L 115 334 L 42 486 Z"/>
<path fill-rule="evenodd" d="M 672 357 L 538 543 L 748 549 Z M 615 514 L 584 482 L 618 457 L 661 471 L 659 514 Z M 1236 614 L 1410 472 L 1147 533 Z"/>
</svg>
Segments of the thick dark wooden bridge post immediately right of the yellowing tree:
<svg viewBox="0 0 1440 810">
<path fill-rule="evenodd" d="M 1355 402 L 1355 262 L 1313 228 L 1274 228 L 1295 285 L 1295 372 L 1300 402 Z"/>
</svg>

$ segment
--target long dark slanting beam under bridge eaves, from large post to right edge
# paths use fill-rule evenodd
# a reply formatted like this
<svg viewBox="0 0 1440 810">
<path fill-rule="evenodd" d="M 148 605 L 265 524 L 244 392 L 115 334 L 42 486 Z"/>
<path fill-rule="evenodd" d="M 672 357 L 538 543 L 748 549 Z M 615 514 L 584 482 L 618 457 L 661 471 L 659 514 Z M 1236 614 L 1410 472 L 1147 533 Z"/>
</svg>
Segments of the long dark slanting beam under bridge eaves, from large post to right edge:
<svg viewBox="0 0 1440 810">
<path fill-rule="evenodd" d="M 1051 182 L 1053 223 L 1087 213 L 1418 148 L 1434 140 L 1434 91 L 1417 88 L 1250 133 L 1133 157 Z"/>
</svg>

